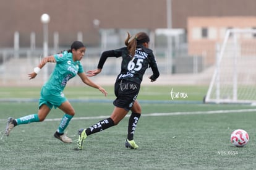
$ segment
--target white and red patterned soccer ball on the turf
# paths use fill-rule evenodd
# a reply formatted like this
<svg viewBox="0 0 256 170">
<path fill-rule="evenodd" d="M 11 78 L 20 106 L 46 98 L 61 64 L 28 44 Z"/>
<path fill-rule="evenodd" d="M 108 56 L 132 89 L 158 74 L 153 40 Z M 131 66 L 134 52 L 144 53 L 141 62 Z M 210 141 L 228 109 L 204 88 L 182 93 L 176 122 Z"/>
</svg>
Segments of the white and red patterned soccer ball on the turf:
<svg viewBox="0 0 256 170">
<path fill-rule="evenodd" d="M 244 147 L 249 142 L 249 135 L 245 130 L 234 130 L 230 137 L 231 143 L 236 147 Z"/>
</svg>

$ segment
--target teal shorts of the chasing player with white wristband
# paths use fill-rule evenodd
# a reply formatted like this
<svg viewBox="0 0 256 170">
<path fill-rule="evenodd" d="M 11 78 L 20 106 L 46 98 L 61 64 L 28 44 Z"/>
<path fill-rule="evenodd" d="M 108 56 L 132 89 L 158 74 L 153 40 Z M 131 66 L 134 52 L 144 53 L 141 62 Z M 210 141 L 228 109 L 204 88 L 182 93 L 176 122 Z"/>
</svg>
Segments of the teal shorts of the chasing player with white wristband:
<svg viewBox="0 0 256 170">
<path fill-rule="evenodd" d="M 39 99 L 39 108 L 42 104 L 46 104 L 50 109 L 58 108 L 62 103 L 67 101 L 67 98 L 64 96 L 64 93 L 56 91 L 54 89 L 49 90 L 47 87 L 43 86 L 41 88 L 41 96 Z"/>
</svg>

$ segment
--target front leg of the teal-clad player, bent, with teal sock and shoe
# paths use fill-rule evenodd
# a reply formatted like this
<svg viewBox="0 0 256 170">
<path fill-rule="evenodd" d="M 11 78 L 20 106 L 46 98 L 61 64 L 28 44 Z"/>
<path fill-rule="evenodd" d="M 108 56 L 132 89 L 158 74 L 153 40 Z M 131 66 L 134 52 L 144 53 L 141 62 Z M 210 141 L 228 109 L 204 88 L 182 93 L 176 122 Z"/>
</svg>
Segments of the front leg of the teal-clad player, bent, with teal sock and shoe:
<svg viewBox="0 0 256 170">
<path fill-rule="evenodd" d="M 61 106 L 59 106 L 59 109 L 61 109 L 65 114 L 61 119 L 61 123 L 59 124 L 59 127 L 56 130 L 54 137 L 58 138 L 64 143 L 72 143 L 72 139 L 67 137 L 66 134 L 64 134 L 64 130 L 67 128 L 67 125 L 69 125 L 70 120 L 75 115 L 75 109 L 67 100 L 64 103 L 62 103 Z"/>
</svg>

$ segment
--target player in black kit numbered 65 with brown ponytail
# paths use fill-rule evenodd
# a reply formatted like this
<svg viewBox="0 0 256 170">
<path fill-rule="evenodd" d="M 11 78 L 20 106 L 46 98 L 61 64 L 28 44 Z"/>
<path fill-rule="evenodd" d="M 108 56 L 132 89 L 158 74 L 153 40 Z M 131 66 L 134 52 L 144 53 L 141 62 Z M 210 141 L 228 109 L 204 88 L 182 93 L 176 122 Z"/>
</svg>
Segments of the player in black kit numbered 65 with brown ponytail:
<svg viewBox="0 0 256 170">
<path fill-rule="evenodd" d="M 79 140 L 76 150 L 82 150 L 83 142 L 88 135 L 117 125 L 130 110 L 132 114 L 129 118 L 125 145 L 131 149 L 139 148 L 134 142 L 134 132 L 141 114 L 140 104 L 136 100 L 140 90 L 140 83 L 148 67 L 151 67 L 153 72 L 153 75 L 149 77 L 151 82 L 154 82 L 159 77 L 155 56 L 153 51 L 148 48 L 149 41 L 147 33 L 139 32 L 134 38 L 131 38 L 128 33 L 125 41 L 126 47 L 104 51 L 101 54 L 98 69 L 87 72 L 88 77 L 95 76 L 101 72 L 108 57 L 122 57 L 121 72 L 117 75 L 114 85 L 116 100 L 113 102 L 115 106 L 113 113 L 109 118 L 103 119 L 87 129 L 79 129 Z"/>
</svg>

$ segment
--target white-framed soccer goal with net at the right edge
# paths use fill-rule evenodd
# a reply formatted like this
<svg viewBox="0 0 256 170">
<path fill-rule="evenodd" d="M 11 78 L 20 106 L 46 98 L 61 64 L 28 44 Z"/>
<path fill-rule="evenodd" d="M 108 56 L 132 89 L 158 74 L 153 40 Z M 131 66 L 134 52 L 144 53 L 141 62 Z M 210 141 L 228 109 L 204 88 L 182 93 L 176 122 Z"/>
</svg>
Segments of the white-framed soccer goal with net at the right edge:
<svg viewBox="0 0 256 170">
<path fill-rule="evenodd" d="M 205 103 L 256 103 L 256 29 L 228 29 Z"/>
</svg>

